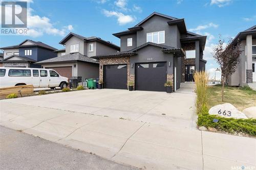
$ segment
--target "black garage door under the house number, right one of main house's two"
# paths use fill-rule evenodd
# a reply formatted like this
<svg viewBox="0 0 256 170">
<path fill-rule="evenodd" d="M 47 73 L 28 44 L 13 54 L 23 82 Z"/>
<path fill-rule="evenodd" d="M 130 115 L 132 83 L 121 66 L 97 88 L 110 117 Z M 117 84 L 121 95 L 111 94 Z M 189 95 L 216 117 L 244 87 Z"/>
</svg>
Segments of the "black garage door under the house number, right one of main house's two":
<svg viewBox="0 0 256 170">
<path fill-rule="evenodd" d="M 166 62 L 136 64 L 136 90 L 165 91 Z"/>
</svg>

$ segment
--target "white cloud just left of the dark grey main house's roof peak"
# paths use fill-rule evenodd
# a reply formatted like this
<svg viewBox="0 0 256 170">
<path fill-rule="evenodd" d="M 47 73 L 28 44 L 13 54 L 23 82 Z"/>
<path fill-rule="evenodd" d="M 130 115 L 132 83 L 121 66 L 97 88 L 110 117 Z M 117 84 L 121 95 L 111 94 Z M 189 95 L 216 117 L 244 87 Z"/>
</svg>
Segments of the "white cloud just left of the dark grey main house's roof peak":
<svg viewBox="0 0 256 170">
<path fill-rule="evenodd" d="M 133 22 L 136 19 L 134 16 L 124 15 L 121 12 L 108 11 L 105 9 L 103 9 L 102 12 L 106 17 L 112 17 L 112 16 L 117 17 L 117 22 L 119 23 L 119 25 L 125 25 L 126 23 Z"/>
</svg>

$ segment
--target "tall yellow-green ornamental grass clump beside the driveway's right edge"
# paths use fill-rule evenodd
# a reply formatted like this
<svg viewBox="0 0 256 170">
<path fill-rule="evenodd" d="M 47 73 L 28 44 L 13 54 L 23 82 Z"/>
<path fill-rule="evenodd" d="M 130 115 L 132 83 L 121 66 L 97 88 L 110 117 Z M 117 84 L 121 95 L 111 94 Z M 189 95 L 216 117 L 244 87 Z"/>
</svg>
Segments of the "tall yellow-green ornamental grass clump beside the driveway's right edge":
<svg viewBox="0 0 256 170">
<path fill-rule="evenodd" d="M 196 71 L 194 74 L 194 80 L 196 83 L 197 93 L 197 113 L 201 113 L 203 106 L 207 107 L 209 88 L 208 88 L 209 74 L 205 71 Z"/>
</svg>

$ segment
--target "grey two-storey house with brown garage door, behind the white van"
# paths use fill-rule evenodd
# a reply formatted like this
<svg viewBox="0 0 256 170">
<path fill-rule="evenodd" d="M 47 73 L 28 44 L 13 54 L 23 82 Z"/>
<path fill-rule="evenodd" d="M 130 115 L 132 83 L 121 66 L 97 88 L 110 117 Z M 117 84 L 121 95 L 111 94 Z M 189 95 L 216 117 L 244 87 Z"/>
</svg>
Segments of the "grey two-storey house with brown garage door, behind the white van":
<svg viewBox="0 0 256 170">
<path fill-rule="evenodd" d="M 109 41 L 98 37 L 83 37 L 75 33 L 69 33 L 59 43 L 65 48 L 55 51 L 57 57 L 36 64 L 42 65 L 42 68 L 54 69 L 61 76 L 68 78 L 98 78 L 99 62 L 91 57 L 120 51 L 119 46 Z"/>
</svg>

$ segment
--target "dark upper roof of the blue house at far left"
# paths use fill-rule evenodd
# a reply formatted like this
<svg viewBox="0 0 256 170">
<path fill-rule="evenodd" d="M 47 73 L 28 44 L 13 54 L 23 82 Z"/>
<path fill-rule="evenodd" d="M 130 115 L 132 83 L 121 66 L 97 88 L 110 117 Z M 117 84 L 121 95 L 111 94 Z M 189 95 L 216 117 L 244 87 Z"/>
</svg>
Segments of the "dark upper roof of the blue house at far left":
<svg viewBox="0 0 256 170">
<path fill-rule="evenodd" d="M 26 41 L 30 41 L 33 44 L 22 45 Z M 33 47 L 33 46 L 38 46 L 38 47 L 46 48 L 46 49 L 51 50 L 51 51 L 57 50 L 57 48 L 54 48 L 54 47 L 52 47 L 50 45 L 47 45 L 47 44 L 42 43 L 40 41 L 33 41 L 33 40 L 30 40 L 30 39 L 26 39 L 23 42 L 19 43 L 18 45 L 1 47 L 1 49 L 5 50 L 5 49 L 10 49 L 10 48 Z"/>
</svg>

